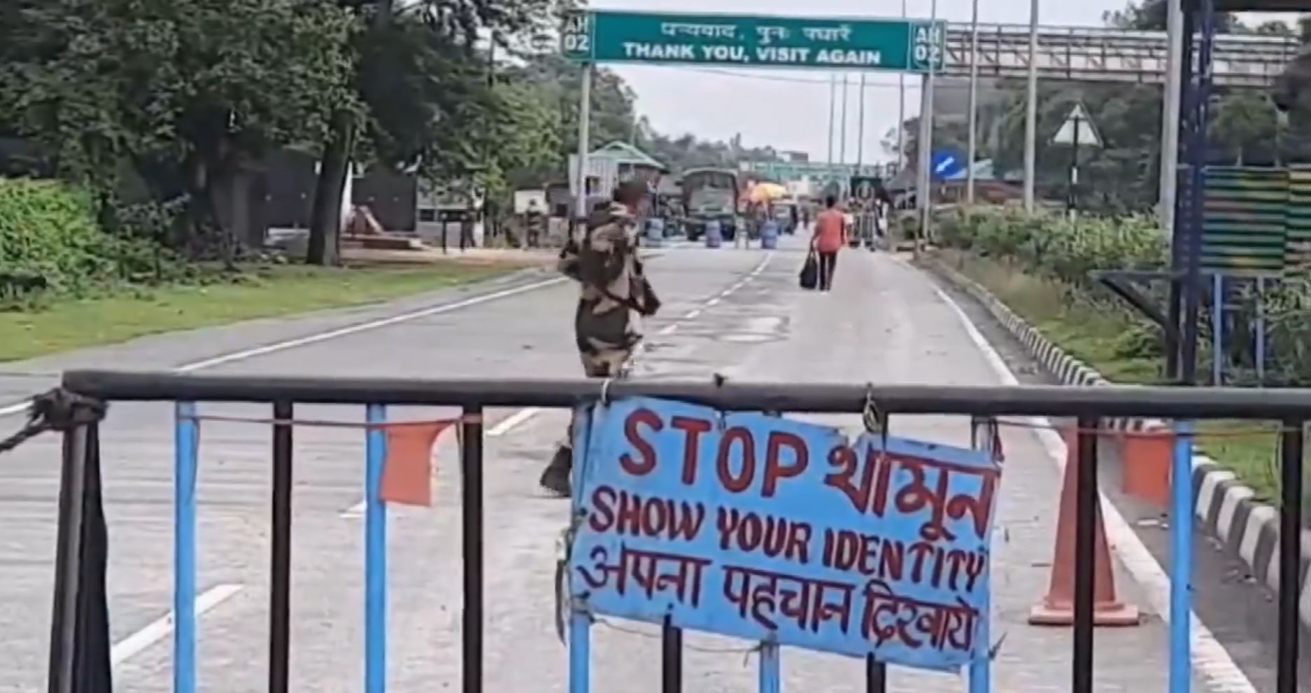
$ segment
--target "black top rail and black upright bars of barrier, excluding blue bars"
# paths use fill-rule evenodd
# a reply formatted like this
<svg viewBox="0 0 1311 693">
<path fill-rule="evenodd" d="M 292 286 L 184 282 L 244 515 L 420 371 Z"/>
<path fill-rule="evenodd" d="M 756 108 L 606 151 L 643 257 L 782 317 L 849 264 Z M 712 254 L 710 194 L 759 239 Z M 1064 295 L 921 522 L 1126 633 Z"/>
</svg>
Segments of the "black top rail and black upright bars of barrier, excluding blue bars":
<svg viewBox="0 0 1311 693">
<path fill-rule="evenodd" d="M 1108 416 L 1160 419 L 1265 419 L 1282 423 L 1282 537 L 1280 541 L 1281 589 L 1280 646 L 1277 655 L 1278 693 L 1297 690 L 1299 623 L 1297 602 L 1301 567 L 1302 427 L 1311 419 L 1311 390 L 1239 390 L 1171 387 L 937 387 L 937 386 L 840 386 L 840 385 L 738 385 L 705 382 L 612 382 L 597 381 L 414 381 L 414 379 L 319 379 L 180 375 L 155 373 L 69 371 L 64 387 L 98 400 L 169 402 L 250 402 L 271 403 L 273 427 L 273 526 L 270 551 L 269 690 L 283 693 L 288 685 L 290 660 L 290 560 L 292 427 L 287 424 L 294 403 L 315 404 L 429 404 L 461 407 L 460 474 L 463 476 L 463 680 L 464 693 L 481 693 L 482 686 L 482 411 L 485 407 L 572 407 L 602 396 L 656 396 L 696 402 L 726 411 L 838 412 L 861 413 L 871 403 L 881 413 L 943 413 L 971 417 L 1067 416 L 1079 420 L 1075 445 L 1078 455 L 1075 508 L 1075 605 L 1074 660 L 1071 688 L 1091 693 L 1093 688 L 1093 560 L 1097 503 L 1099 420 Z M 102 555 L 87 556 L 84 546 L 90 521 L 102 522 L 98 511 L 98 440 L 96 425 L 66 433 L 56 588 L 51 634 L 51 693 L 108 690 L 84 686 L 85 668 L 79 663 L 104 660 L 108 685 L 109 665 L 104 652 L 89 652 L 97 642 L 96 630 L 108 625 L 97 621 L 94 605 L 79 601 L 96 589 L 94 564 Z M 90 505 L 79 503 L 92 496 Z M 102 526 L 102 525 L 101 525 Z M 92 526 L 94 530 L 94 526 Z M 102 532 L 102 530 L 101 530 Z M 97 563 L 98 562 L 98 563 Z M 89 574 L 81 572 L 92 563 Z M 1190 570 L 1190 567 L 1189 567 Z M 89 583 L 88 583 L 89 580 Z M 100 587 L 102 593 L 102 587 Z M 105 640 L 105 638 L 100 638 Z M 106 640 L 108 642 L 108 640 Z M 94 650 L 94 646 L 90 646 Z M 661 660 L 663 693 L 683 689 L 683 634 L 665 622 Z M 106 648 L 108 652 L 108 648 Z M 865 690 L 886 692 L 886 672 L 880 662 L 867 658 Z"/>
</svg>

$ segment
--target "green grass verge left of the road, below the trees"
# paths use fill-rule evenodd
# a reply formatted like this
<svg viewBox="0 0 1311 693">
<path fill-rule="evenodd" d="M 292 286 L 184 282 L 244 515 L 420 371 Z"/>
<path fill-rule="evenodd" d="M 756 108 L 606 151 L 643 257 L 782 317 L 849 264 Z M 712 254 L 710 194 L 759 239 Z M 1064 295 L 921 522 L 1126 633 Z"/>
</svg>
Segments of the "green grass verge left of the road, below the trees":
<svg viewBox="0 0 1311 693">
<path fill-rule="evenodd" d="M 460 265 L 246 268 L 224 281 L 56 301 L 33 312 L 0 312 L 0 361 L 31 358 L 146 335 L 361 306 L 502 274 Z"/>
</svg>

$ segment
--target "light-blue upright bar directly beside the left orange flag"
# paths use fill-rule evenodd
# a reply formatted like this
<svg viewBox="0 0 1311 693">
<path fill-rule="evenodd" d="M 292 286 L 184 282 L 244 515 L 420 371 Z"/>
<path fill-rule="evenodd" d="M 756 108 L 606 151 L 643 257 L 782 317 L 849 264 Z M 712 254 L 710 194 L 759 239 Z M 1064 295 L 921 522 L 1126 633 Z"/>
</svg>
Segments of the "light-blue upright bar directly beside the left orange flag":
<svg viewBox="0 0 1311 693">
<path fill-rule="evenodd" d="M 370 404 L 364 438 L 364 692 L 387 690 L 387 407 Z"/>
</svg>

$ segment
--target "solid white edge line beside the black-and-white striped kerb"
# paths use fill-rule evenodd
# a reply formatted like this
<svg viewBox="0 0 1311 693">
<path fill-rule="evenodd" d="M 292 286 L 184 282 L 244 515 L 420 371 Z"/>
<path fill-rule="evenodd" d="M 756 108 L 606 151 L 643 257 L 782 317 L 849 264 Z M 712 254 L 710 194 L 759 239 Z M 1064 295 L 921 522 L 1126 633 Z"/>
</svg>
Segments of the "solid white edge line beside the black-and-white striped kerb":
<svg viewBox="0 0 1311 693">
<path fill-rule="evenodd" d="M 901 259 L 894 259 L 903 266 L 910 268 Z M 916 270 L 918 272 L 918 270 Z M 987 339 L 978 331 L 974 323 L 970 320 L 969 315 L 948 295 L 945 291 L 933 287 L 937 297 L 947 303 L 948 307 L 956 312 L 960 318 L 961 324 L 965 326 L 965 332 L 969 335 L 970 341 L 983 353 L 988 365 L 996 373 L 998 378 L 1002 379 L 1002 385 L 1013 386 L 1020 385 L 1020 381 L 1011 371 L 1002 356 L 996 353 L 996 349 L 988 344 Z M 1047 455 L 1055 462 L 1057 467 L 1065 471 L 1066 466 L 1066 445 L 1061 440 L 1061 436 L 1051 430 L 1051 421 L 1044 416 L 1034 416 L 1028 419 L 1029 425 L 1036 428 L 1034 434 L 1042 441 L 1042 446 L 1046 449 Z M 1099 492 L 1100 494 L 1100 492 Z M 1138 534 L 1134 533 L 1129 522 L 1125 521 L 1124 516 L 1116 508 L 1110 499 L 1105 494 L 1101 495 L 1101 509 L 1103 520 L 1106 526 L 1106 541 L 1110 543 L 1112 550 L 1120 556 L 1121 563 L 1134 578 L 1134 580 L 1142 585 L 1143 592 L 1147 595 L 1147 600 L 1151 602 L 1152 610 L 1155 610 L 1162 621 L 1169 623 L 1169 576 L 1162 570 L 1160 563 L 1156 558 L 1151 555 L 1147 546 L 1143 545 Z M 1217 693 L 1256 693 L 1256 688 L 1252 681 L 1248 680 L 1243 669 L 1234 663 L 1234 658 L 1230 656 L 1224 646 L 1215 639 L 1206 623 L 1197 617 L 1193 612 L 1189 614 L 1192 640 L 1193 640 L 1193 669 L 1198 672 L 1207 684 L 1213 686 Z"/>
</svg>

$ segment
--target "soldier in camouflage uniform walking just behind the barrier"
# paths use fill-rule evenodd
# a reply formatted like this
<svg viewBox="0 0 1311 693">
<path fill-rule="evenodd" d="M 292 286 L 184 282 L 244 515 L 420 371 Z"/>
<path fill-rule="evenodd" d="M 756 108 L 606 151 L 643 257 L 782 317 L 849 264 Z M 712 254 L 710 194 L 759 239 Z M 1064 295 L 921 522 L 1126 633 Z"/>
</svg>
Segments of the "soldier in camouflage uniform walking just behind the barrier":
<svg viewBox="0 0 1311 693">
<path fill-rule="evenodd" d="M 640 181 L 620 184 L 614 201 L 599 205 L 581 238 L 570 239 L 560 253 L 560 270 L 581 285 L 574 336 L 589 378 L 625 377 L 642 340 L 641 318 L 659 310 L 637 259 L 637 207 L 646 194 Z M 541 472 L 543 488 L 568 496 L 572 466 L 573 423 Z"/>
</svg>

